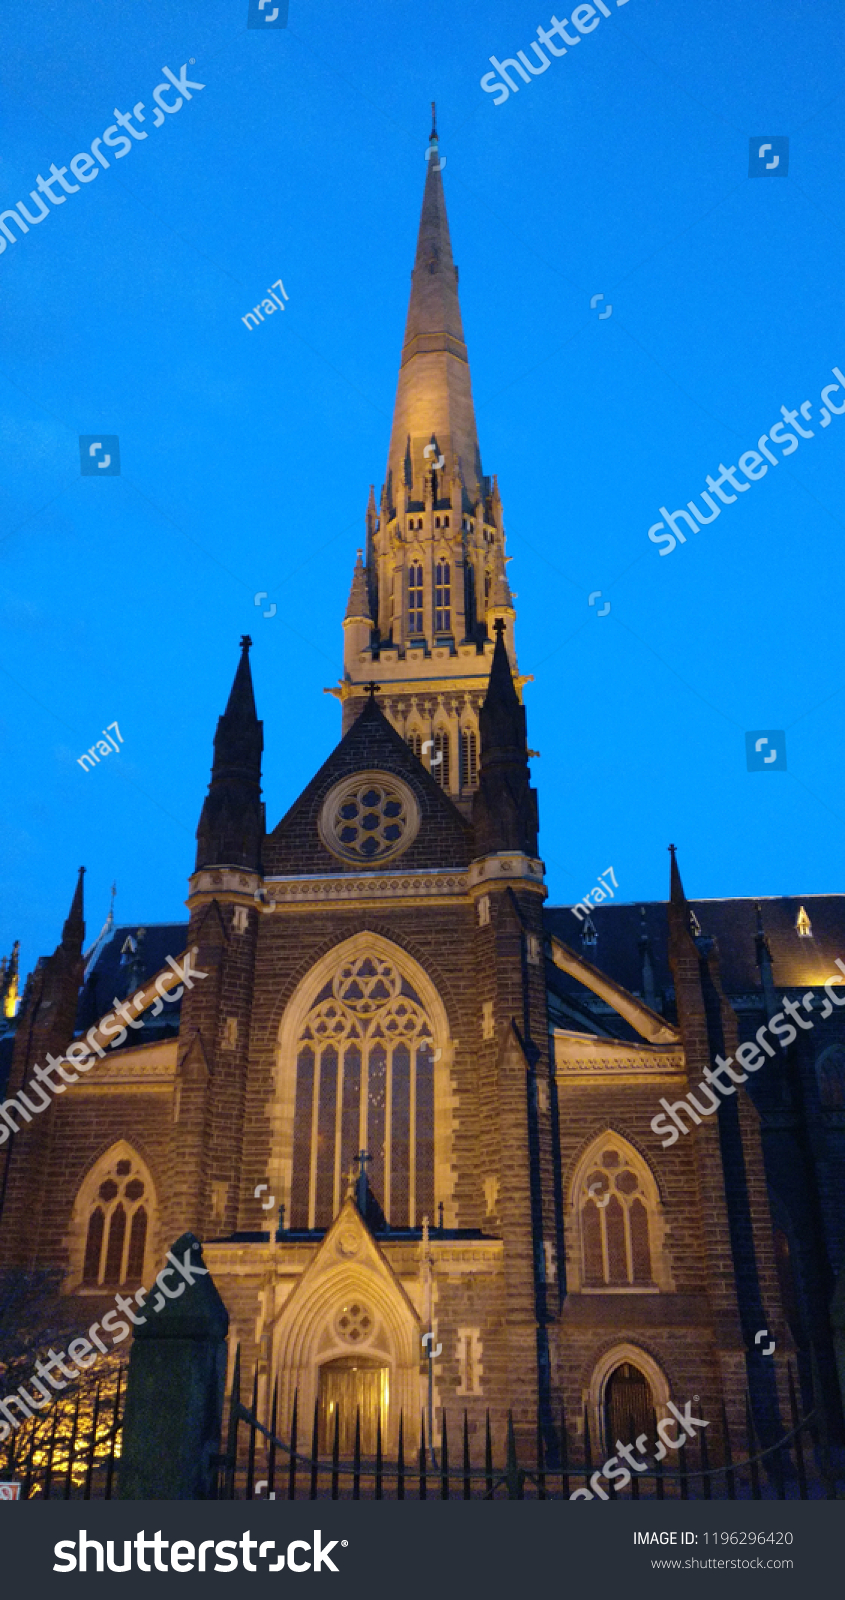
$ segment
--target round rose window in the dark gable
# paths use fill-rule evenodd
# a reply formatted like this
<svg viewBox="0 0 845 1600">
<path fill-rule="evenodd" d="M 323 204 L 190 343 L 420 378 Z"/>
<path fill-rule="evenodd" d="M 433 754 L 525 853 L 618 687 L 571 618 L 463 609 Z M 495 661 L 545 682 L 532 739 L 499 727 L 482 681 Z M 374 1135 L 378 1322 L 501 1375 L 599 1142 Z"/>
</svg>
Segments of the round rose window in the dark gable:
<svg viewBox="0 0 845 1600">
<path fill-rule="evenodd" d="M 416 800 L 398 778 L 358 773 L 334 784 L 320 813 L 320 837 L 344 861 L 378 862 L 406 850 L 416 837 Z"/>
</svg>

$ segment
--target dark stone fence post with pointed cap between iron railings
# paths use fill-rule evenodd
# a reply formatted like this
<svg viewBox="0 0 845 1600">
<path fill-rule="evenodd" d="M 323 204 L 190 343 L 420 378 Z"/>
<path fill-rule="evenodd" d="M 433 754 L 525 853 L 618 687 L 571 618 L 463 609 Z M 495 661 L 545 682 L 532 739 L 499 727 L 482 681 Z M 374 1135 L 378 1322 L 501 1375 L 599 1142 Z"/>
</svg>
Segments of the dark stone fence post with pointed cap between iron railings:
<svg viewBox="0 0 845 1600">
<path fill-rule="evenodd" d="M 168 1269 L 173 1298 L 150 1291 L 130 1354 L 120 1499 L 214 1498 L 229 1312 L 194 1234 L 182 1234 L 170 1256 L 179 1262 L 179 1272 Z M 192 1269 L 203 1275 L 190 1277 Z"/>
</svg>

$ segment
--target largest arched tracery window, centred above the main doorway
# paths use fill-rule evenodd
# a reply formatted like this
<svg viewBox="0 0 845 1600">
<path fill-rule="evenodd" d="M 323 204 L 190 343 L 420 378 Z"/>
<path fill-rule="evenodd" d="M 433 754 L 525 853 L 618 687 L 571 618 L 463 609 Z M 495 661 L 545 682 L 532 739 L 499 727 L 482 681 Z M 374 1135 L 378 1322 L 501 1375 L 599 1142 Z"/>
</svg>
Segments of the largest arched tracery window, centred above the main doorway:
<svg viewBox="0 0 845 1600">
<path fill-rule="evenodd" d="M 291 1227 L 328 1227 L 358 1152 L 390 1227 L 434 1219 L 434 1048 L 419 995 L 386 958 L 341 963 L 296 1046 Z"/>
</svg>

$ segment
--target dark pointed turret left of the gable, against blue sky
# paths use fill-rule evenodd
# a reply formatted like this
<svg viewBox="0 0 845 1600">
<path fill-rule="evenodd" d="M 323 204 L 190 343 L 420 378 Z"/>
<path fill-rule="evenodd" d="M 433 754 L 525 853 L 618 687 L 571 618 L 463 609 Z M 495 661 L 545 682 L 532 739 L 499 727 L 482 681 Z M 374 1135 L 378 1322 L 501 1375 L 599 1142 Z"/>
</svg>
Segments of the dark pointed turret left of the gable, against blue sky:
<svg viewBox="0 0 845 1600">
<path fill-rule="evenodd" d="M 251 638 L 245 634 L 229 704 L 214 734 L 211 782 L 197 829 L 197 869 L 227 866 L 261 870 L 264 730 L 256 717 L 250 645 Z"/>
</svg>

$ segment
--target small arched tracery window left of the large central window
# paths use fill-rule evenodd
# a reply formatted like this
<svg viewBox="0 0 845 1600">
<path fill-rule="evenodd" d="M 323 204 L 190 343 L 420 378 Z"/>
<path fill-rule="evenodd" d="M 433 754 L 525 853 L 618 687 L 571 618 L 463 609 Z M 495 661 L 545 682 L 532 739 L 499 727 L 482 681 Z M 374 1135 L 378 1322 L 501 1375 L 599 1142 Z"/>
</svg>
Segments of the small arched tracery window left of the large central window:
<svg viewBox="0 0 845 1600">
<path fill-rule="evenodd" d="M 152 1194 L 141 1163 L 128 1154 L 99 1163 L 82 1205 L 82 1286 L 142 1283 Z"/>
</svg>

